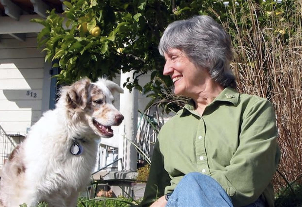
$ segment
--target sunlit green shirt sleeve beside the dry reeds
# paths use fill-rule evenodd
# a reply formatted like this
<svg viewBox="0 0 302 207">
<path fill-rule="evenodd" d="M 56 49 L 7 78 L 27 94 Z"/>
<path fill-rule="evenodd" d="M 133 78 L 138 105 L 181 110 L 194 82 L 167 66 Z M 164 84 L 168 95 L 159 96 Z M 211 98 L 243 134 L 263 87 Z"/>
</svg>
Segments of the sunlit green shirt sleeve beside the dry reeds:
<svg viewBox="0 0 302 207">
<path fill-rule="evenodd" d="M 217 180 L 231 197 L 234 206 L 244 206 L 265 191 L 276 172 L 280 150 L 272 105 L 258 99 L 243 112 L 239 146 L 225 170 L 214 170 Z"/>
</svg>

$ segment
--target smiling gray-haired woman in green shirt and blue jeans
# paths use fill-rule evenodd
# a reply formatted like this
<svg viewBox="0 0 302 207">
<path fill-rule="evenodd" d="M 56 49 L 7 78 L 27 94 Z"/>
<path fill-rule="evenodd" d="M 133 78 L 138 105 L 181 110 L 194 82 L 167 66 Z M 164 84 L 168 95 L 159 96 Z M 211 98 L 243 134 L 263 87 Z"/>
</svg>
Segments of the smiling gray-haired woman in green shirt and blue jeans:
<svg viewBox="0 0 302 207">
<path fill-rule="evenodd" d="M 236 91 L 223 27 L 209 16 L 175 21 L 159 52 L 175 95 L 191 100 L 159 132 L 140 205 L 274 206 L 274 110 L 268 100 Z"/>
</svg>

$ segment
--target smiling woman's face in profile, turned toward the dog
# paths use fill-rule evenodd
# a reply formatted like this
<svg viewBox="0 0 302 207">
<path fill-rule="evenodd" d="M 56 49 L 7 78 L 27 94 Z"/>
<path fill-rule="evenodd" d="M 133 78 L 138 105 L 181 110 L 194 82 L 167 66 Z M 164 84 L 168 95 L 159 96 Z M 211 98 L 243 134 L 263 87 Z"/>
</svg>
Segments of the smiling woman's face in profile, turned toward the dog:
<svg viewBox="0 0 302 207">
<path fill-rule="evenodd" d="M 206 70 L 197 68 L 182 50 L 170 49 L 164 56 L 166 63 L 163 74 L 171 77 L 175 95 L 194 98 L 204 91 L 205 83 L 210 79 Z"/>
</svg>

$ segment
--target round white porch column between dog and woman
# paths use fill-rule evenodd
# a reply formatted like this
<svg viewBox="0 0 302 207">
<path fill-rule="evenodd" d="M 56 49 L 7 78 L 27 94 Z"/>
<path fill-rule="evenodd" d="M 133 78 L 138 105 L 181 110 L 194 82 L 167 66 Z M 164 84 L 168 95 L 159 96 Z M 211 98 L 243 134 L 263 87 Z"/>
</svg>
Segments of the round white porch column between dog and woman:
<svg viewBox="0 0 302 207">
<path fill-rule="evenodd" d="M 133 71 L 120 74 L 120 86 L 123 88 L 124 82 L 133 80 Z M 118 163 L 118 171 L 132 171 L 137 170 L 137 150 L 130 141 L 136 142 L 137 135 L 137 114 L 138 114 L 138 91 L 124 87 L 124 93 L 120 94 L 120 112 L 124 116 L 124 120 L 120 125 L 118 158 L 122 158 L 122 162 Z M 127 139 L 130 141 L 128 141 Z"/>
</svg>

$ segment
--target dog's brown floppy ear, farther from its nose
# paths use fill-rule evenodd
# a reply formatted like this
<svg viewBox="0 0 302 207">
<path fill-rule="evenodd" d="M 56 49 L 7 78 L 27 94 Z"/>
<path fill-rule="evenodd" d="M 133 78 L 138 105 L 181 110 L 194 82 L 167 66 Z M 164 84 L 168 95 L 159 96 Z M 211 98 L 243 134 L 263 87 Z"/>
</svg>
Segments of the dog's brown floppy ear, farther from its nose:
<svg viewBox="0 0 302 207">
<path fill-rule="evenodd" d="M 83 78 L 71 86 L 66 93 L 66 102 L 71 108 L 81 108 L 82 110 L 88 103 L 88 89 L 90 85 L 90 79 Z"/>
</svg>

